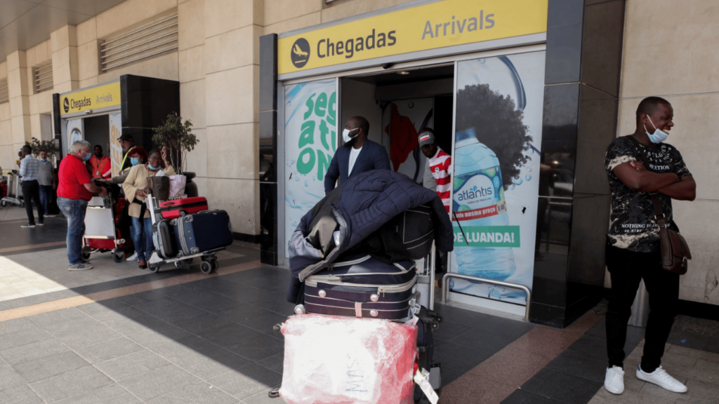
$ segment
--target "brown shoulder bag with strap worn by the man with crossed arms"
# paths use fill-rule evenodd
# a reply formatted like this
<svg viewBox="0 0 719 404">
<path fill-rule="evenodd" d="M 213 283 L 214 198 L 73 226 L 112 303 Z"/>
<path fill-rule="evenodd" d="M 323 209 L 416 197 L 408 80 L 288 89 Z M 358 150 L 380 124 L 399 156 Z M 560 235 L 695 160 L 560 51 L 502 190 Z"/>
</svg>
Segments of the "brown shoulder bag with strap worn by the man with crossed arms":
<svg viewBox="0 0 719 404">
<path fill-rule="evenodd" d="M 649 159 L 646 158 L 646 154 L 641 147 L 637 139 L 630 137 L 634 146 L 639 150 L 641 160 L 644 163 L 644 167 L 649 170 Z M 692 259 L 692 252 L 689 250 L 687 240 L 684 239 L 682 234 L 678 231 L 669 229 L 667 223 L 667 216 L 664 215 L 664 211 L 661 209 L 661 202 L 659 201 L 659 195 L 654 192 L 651 193 L 651 204 L 654 206 L 654 219 L 656 224 L 659 225 L 659 241 L 661 245 L 661 267 L 669 272 L 674 272 L 679 275 L 687 273 L 687 260 Z"/>
</svg>

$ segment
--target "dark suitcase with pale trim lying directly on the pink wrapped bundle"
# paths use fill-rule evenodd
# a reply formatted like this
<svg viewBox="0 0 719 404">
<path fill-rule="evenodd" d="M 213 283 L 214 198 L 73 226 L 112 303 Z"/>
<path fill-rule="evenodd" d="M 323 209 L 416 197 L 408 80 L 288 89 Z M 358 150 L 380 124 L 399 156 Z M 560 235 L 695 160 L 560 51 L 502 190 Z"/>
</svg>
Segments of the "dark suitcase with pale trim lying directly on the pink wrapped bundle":
<svg viewBox="0 0 719 404">
<path fill-rule="evenodd" d="M 384 320 L 408 318 L 417 274 L 413 261 L 394 264 L 369 255 L 335 262 L 305 280 L 308 313 Z"/>
</svg>

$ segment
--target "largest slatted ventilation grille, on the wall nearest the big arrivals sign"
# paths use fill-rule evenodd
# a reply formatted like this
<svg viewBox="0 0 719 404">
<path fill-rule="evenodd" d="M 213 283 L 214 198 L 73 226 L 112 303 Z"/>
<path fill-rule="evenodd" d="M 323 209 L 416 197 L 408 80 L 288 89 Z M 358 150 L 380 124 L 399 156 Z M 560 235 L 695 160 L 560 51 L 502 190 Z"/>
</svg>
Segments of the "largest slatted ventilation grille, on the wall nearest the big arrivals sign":
<svg viewBox="0 0 719 404">
<path fill-rule="evenodd" d="M 100 44 L 104 72 L 178 49 L 178 14 L 165 14 Z"/>
</svg>

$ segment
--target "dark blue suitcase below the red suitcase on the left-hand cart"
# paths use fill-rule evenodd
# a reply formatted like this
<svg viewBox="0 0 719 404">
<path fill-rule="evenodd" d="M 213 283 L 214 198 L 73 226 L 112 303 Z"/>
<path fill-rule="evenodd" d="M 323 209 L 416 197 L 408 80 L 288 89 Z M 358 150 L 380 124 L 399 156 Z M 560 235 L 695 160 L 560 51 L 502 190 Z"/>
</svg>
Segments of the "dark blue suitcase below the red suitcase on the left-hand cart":
<svg viewBox="0 0 719 404">
<path fill-rule="evenodd" d="M 173 219 L 175 242 L 183 256 L 232 244 L 232 224 L 226 211 L 203 211 Z"/>
</svg>

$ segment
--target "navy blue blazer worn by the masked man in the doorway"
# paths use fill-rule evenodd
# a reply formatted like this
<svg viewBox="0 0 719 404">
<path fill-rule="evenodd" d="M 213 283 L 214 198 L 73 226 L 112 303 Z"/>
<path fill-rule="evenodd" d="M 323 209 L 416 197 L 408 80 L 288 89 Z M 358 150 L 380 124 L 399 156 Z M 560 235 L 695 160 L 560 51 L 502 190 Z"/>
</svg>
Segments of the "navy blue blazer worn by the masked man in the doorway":
<svg viewBox="0 0 719 404">
<path fill-rule="evenodd" d="M 351 146 L 340 146 L 337 147 L 337 151 L 332 157 L 332 161 L 329 163 L 329 169 L 324 175 L 324 193 L 328 194 L 334 189 L 334 185 L 339 178 L 339 184 L 342 185 L 347 178 L 354 177 L 354 175 L 365 173 L 370 170 L 389 170 L 390 159 L 387 157 L 387 151 L 381 144 L 372 142 L 370 139 L 365 139 L 365 143 L 362 144 L 362 151 L 359 152 L 357 160 L 354 161 L 354 167 L 352 167 L 352 173 L 347 173 L 349 168 L 349 150 Z"/>
</svg>

